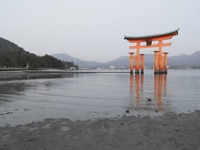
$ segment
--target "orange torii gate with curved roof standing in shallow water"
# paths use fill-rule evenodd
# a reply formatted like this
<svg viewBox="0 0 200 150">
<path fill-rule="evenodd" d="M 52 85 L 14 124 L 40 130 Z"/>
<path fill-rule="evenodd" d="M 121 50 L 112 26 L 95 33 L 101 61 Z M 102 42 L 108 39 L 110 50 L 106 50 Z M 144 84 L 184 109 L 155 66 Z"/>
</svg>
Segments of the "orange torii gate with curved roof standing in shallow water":
<svg viewBox="0 0 200 150">
<path fill-rule="evenodd" d="M 130 52 L 130 74 L 133 74 L 133 68 L 135 68 L 135 74 L 144 73 L 144 54 L 140 54 L 141 48 L 154 48 L 158 47 L 158 51 L 154 51 L 154 73 L 155 74 L 166 74 L 167 73 L 167 52 L 162 52 L 162 47 L 171 46 L 171 43 L 163 43 L 163 40 L 169 40 L 173 36 L 178 35 L 178 30 L 150 35 L 150 36 L 140 36 L 131 37 L 125 36 L 124 39 L 128 40 L 129 43 L 135 43 L 135 45 L 130 46 L 130 49 L 136 49 L 136 55 Z M 141 45 L 141 43 L 146 42 L 146 45 Z M 154 43 L 153 43 L 154 42 Z M 133 65 L 133 60 L 135 59 L 135 66 Z"/>
</svg>

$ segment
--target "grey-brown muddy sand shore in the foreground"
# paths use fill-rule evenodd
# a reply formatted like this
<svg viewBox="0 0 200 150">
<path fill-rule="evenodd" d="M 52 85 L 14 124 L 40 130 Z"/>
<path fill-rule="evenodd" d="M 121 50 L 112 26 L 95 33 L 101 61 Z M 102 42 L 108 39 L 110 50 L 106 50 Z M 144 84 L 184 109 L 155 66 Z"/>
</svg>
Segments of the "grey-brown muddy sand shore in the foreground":
<svg viewBox="0 0 200 150">
<path fill-rule="evenodd" d="M 45 119 L 16 127 L 0 127 L 0 150 L 66 149 L 200 149 L 200 111 L 167 113 L 153 118 Z"/>
</svg>

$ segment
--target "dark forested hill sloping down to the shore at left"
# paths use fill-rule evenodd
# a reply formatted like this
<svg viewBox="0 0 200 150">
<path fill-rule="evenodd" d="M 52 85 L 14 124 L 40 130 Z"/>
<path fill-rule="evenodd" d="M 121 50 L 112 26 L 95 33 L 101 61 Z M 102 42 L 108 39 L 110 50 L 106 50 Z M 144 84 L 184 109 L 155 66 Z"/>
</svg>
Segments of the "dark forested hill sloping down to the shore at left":
<svg viewBox="0 0 200 150">
<path fill-rule="evenodd" d="M 76 67 L 73 62 L 64 62 L 50 55 L 39 57 L 33 53 L 25 51 L 16 44 L 0 37 L 0 67 L 14 68 L 70 68 Z"/>
</svg>

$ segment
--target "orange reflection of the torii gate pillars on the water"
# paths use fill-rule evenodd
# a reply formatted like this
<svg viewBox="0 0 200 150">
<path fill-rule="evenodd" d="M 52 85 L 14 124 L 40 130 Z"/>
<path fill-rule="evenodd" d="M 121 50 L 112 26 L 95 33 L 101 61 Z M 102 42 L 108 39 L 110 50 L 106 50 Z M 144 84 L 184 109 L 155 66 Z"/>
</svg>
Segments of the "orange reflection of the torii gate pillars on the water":
<svg viewBox="0 0 200 150">
<path fill-rule="evenodd" d="M 155 75 L 154 90 L 152 92 L 154 98 L 150 98 L 150 100 L 155 102 L 153 102 L 152 105 L 156 104 L 154 106 L 159 111 L 169 109 L 169 104 L 166 103 L 166 93 L 167 75 Z M 139 108 L 149 108 L 150 105 L 148 105 L 148 103 L 144 103 L 144 95 L 146 96 L 144 92 L 144 75 L 130 75 L 130 104 L 128 106 L 128 109 L 133 109 L 134 106 Z"/>
</svg>

